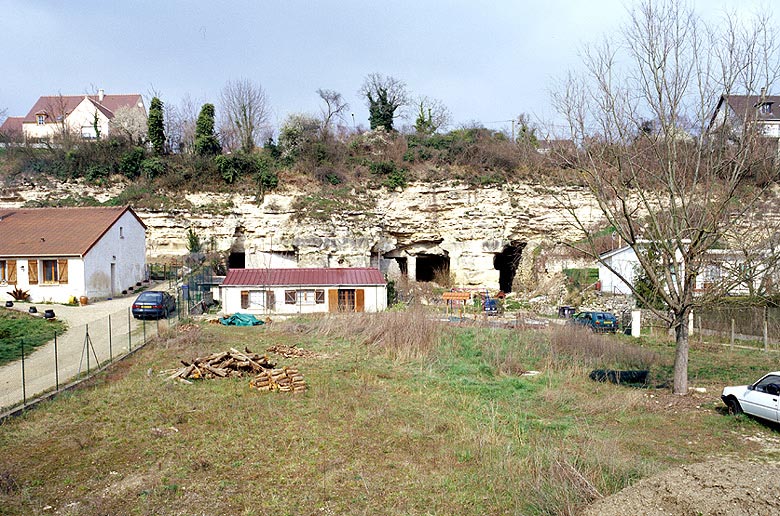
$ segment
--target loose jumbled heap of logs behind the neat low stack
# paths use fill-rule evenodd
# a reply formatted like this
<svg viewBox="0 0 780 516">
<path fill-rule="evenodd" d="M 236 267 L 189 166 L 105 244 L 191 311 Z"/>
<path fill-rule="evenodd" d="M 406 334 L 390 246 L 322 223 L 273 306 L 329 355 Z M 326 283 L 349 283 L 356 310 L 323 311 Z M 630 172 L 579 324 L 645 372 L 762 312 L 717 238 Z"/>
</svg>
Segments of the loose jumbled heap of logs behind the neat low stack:
<svg viewBox="0 0 780 516">
<path fill-rule="evenodd" d="M 261 373 L 276 367 L 267 355 L 258 355 L 244 348 L 235 348 L 221 353 L 196 358 L 192 362 L 181 361 L 184 367 L 173 371 L 168 380 L 195 380 L 198 378 L 236 378 Z M 166 371 L 170 373 L 170 371 Z"/>
</svg>

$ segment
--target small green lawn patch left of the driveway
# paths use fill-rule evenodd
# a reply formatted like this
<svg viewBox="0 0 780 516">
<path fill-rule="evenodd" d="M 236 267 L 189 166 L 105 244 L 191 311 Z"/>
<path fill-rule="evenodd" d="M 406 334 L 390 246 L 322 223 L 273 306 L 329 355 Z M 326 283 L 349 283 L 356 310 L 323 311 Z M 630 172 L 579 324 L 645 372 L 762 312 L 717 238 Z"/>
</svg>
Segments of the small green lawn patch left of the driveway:
<svg viewBox="0 0 780 516">
<path fill-rule="evenodd" d="M 17 310 L 0 308 L 0 365 L 18 360 L 22 355 L 22 341 L 25 353 L 54 338 L 54 332 L 62 333 L 65 323 L 47 321 Z"/>
</svg>

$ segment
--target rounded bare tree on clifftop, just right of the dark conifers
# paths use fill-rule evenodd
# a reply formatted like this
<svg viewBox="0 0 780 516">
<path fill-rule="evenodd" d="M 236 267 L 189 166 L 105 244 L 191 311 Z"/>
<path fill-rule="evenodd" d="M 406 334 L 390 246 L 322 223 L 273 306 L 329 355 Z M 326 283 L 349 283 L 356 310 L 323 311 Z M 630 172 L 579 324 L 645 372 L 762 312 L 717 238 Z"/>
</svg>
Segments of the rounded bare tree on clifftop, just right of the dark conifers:
<svg viewBox="0 0 780 516">
<path fill-rule="evenodd" d="M 243 151 L 251 152 L 270 116 L 268 97 L 263 87 L 249 79 L 228 81 L 220 94 L 220 108 L 223 117 L 221 127 L 232 132 Z"/>
</svg>

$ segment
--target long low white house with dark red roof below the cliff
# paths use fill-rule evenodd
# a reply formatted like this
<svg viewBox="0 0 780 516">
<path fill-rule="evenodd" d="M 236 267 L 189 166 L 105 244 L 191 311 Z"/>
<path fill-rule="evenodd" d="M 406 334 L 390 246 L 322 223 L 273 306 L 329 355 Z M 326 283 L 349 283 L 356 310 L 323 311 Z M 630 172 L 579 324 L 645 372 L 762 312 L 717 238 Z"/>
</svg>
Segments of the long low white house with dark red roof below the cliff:
<svg viewBox="0 0 780 516">
<path fill-rule="evenodd" d="M 387 282 L 373 268 L 230 269 L 220 297 L 226 314 L 379 312 Z"/>
</svg>

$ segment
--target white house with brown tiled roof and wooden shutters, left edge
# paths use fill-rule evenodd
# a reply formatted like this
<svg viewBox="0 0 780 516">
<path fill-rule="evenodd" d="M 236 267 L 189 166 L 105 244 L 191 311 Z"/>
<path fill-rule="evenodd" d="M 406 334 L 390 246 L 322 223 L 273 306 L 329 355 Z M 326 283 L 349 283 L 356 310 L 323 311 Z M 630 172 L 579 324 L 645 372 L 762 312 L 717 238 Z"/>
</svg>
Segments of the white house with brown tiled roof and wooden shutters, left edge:
<svg viewBox="0 0 780 516">
<path fill-rule="evenodd" d="M 0 209 L 0 299 L 113 297 L 146 276 L 146 225 L 130 207 Z"/>
</svg>

